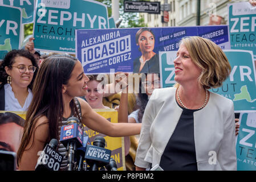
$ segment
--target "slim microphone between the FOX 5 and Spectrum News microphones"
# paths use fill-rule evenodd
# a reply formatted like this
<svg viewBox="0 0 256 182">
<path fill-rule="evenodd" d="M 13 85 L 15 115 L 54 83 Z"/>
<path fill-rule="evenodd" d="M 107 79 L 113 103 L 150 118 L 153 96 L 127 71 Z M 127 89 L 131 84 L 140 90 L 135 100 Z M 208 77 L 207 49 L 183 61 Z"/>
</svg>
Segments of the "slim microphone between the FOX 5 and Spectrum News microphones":
<svg viewBox="0 0 256 182">
<path fill-rule="evenodd" d="M 86 155 L 86 147 L 87 144 L 91 144 L 90 138 L 88 137 L 88 135 L 86 133 L 84 133 L 83 136 L 83 146 L 79 147 L 76 150 L 76 161 L 78 161 L 78 167 L 77 167 L 77 171 L 82 171 L 83 170 L 83 166 L 84 166 L 84 170 L 86 170 L 86 163 L 84 162 L 84 156 Z"/>
</svg>

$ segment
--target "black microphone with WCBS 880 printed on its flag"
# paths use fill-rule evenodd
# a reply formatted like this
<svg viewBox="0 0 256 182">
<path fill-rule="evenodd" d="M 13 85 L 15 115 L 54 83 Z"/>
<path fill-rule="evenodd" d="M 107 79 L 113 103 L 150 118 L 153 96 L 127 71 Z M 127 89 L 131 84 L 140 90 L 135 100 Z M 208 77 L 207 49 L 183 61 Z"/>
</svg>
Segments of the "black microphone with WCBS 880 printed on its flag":
<svg viewBox="0 0 256 182">
<path fill-rule="evenodd" d="M 56 151 L 57 146 L 58 140 L 51 139 L 50 143 L 41 152 L 35 171 L 59 171 L 63 156 Z"/>
</svg>

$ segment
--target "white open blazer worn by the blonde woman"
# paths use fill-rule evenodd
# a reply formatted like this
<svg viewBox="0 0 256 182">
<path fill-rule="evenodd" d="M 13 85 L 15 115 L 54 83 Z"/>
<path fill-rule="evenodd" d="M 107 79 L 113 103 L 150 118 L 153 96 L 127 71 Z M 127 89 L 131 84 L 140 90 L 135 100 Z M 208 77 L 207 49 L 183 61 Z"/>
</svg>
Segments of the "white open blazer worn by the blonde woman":
<svg viewBox="0 0 256 182">
<path fill-rule="evenodd" d="M 176 88 L 153 91 L 143 115 L 137 167 L 160 164 L 182 113 L 175 94 Z M 208 104 L 194 112 L 194 143 L 198 170 L 237 170 L 233 101 L 210 92 Z"/>
</svg>

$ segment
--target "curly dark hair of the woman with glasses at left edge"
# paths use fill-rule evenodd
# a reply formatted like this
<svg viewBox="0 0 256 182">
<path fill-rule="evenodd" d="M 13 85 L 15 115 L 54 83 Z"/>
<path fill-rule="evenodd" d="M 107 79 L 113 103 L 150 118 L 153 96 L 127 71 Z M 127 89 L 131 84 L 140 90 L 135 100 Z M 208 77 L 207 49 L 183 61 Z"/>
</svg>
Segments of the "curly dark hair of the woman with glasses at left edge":
<svg viewBox="0 0 256 182">
<path fill-rule="evenodd" d="M 0 82 L 2 82 L 2 85 L 5 85 L 7 83 L 8 75 L 5 71 L 5 67 L 11 68 L 11 66 L 14 64 L 14 59 L 17 56 L 26 57 L 27 59 L 31 60 L 32 65 L 36 67 L 32 81 L 28 86 L 32 90 L 35 76 L 38 72 L 38 64 L 36 64 L 34 56 L 29 51 L 24 49 L 14 49 L 5 55 L 5 58 L 0 62 Z"/>
</svg>

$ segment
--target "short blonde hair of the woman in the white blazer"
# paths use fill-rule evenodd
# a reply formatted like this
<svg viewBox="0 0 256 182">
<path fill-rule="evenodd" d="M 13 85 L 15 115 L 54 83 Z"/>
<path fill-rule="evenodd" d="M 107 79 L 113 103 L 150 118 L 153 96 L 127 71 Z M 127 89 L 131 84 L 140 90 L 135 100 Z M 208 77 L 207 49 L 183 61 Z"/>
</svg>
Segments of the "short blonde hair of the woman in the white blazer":
<svg viewBox="0 0 256 182">
<path fill-rule="evenodd" d="M 188 49 L 193 63 L 202 70 L 198 82 L 206 89 L 221 86 L 231 71 L 229 60 L 222 49 L 200 36 L 186 37 L 181 42 Z"/>
</svg>

